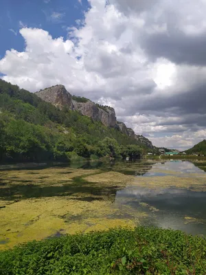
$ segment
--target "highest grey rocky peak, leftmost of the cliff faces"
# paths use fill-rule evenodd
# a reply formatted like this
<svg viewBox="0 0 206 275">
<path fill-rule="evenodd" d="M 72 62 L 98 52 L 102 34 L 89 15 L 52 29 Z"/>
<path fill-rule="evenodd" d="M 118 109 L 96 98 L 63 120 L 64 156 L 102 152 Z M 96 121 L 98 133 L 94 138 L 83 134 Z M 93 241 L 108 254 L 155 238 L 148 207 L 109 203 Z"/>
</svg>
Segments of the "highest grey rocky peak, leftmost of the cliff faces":
<svg viewBox="0 0 206 275">
<path fill-rule="evenodd" d="M 37 91 L 36 96 L 52 103 L 54 106 L 62 109 L 62 107 L 67 106 L 69 109 L 73 109 L 73 102 L 71 94 L 65 89 L 63 85 L 56 85 L 49 87 L 47 89 Z"/>
</svg>

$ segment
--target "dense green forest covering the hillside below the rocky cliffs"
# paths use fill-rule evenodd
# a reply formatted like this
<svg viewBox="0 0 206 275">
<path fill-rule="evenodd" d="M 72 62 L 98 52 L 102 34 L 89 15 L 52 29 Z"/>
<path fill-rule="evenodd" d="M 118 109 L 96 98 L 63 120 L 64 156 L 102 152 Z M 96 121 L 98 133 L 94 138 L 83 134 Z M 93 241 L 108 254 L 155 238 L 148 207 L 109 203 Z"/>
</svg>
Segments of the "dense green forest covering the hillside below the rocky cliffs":
<svg viewBox="0 0 206 275">
<path fill-rule="evenodd" d="M 138 157 L 148 148 L 101 122 L 0 80 L 0 160 L 72 161 Z M 151 150 L 150 150 L 151 151 Z"/>
</svg>

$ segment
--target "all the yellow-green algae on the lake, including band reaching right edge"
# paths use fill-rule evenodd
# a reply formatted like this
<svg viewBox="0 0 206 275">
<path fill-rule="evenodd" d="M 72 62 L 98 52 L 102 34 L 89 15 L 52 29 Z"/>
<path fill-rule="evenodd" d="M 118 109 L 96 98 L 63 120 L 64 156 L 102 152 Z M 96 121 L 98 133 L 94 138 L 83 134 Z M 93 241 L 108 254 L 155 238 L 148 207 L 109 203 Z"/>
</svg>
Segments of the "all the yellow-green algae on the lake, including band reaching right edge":
<svg viewBox="0 0 206 275">
<path fill-rule="evenodd" d="M 119 208 L 114 203 L 117 190 L 126 186 L 151 190 L 176 186 L 205 191 L 205 175 L 175 177 L 173 173 L 148 178 L 125 175 L 126 169 L 124 173 L 69 167 L 1 171 L 0 249 L 65 233 L 116 226 L 133 228 L 147 214 L 124 204 Z M 157 212 L 152 206 L 148 209 Z"/>
</svg>

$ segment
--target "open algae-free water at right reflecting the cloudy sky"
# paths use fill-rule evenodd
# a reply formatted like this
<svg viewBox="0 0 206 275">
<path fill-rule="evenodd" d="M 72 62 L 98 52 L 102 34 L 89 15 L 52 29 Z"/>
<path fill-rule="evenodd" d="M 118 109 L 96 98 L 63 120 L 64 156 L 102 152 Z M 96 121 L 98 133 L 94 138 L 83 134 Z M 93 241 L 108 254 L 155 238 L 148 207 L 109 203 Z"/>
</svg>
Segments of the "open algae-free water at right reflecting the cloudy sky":
<svg viewBox="0 0 206 275">
<path fill-rule="evenodd" d="M 201 168 L 198 168 L 200 166 Z M 181 188 L 178 186 L 178 177 L 197 177 L 205 175 L 205 164 L 183 161 L 168 161 L 153 164 L 141 177 L 165 177 L 172 175 L 176 186 L 164 187 L 164 179 L 158 187 L 150 188 L 141 186 L 128 186 L 117 191 L 115 203 L 122 203 L 130 208 L 148 213 L 144 225 L 155 225 L 161 228 L 183 230 L 190 234 L 206 234 L 206 181 L 203 177 L 203 188 L 192 190 L 193 186 Z M 159 172 L 161 170 L 161 172 Z M 138 181 L 137 176 L 137 181 Z M 175 177 L 177 179 L 175 179 Z M 150 181 L 150 179 L 148 179 Z M 190 188 L 189 188 L 190 187 Z"/>
</svg>

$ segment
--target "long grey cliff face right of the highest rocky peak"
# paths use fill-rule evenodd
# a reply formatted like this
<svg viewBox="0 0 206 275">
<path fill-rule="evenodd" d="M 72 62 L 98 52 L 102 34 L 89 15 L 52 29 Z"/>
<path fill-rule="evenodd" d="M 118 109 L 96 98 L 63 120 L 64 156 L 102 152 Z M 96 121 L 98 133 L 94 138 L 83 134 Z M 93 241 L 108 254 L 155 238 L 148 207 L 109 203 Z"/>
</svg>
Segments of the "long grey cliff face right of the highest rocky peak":
<svg viewBox="0 0 206 275">
<path fill-rule="evenodd" d="M 107 127 L 115 127 L 117 122 L 115 110 L 111 107 L 98 107 L 98 104 L 88 100 L 87 102 L 73 102 L 73 107 L 82 115 L 87 115 L 95 121 L 101 121 Z M 104 109 L 102 109 L 104 108 Z"/>
</svg>

